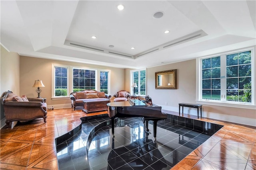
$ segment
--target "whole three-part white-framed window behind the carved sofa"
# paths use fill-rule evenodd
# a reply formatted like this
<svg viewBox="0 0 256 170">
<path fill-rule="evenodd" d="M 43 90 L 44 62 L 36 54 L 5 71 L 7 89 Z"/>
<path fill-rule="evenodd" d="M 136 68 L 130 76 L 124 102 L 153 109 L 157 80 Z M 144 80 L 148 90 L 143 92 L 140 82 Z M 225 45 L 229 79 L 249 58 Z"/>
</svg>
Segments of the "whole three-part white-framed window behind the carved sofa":
<svg viewBox="0 0 256 170">
<path fill-rule="evenodd" d="M 70 92 L 85 89 L 110 94 L 110 71 L 52 64 L 52 99 L 65 100 L 69 98 Z"/>
</svg>

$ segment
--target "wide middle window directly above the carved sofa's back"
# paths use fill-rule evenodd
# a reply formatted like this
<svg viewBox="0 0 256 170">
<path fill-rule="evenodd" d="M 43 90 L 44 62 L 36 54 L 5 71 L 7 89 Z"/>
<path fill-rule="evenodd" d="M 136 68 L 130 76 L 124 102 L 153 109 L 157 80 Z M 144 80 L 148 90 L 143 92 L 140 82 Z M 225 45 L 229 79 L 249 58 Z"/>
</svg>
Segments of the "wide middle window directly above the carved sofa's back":
<svg viewBox="0 0 256 170">
<path fill-rule="evenodd" d="M 96 89 L 96 70 L 73 68 L 73 92 Z"/>
</svg>

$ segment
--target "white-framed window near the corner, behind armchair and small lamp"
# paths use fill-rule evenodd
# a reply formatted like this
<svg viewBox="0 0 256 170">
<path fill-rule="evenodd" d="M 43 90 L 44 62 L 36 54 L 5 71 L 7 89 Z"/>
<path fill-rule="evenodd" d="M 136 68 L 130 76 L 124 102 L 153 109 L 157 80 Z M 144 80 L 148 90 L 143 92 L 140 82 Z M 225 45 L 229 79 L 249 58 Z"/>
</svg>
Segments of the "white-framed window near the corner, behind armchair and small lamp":
<svg viewBox="0 0 256 170">
<path fill-rule="evenodd" d="M 146 95 L 146 70 L 131 71 L 132 83 L 136 83 L 138 88 L 135 88 L 135 94 Z M 133 88 L 131 88 L 133 92 Z"/>
</svg>

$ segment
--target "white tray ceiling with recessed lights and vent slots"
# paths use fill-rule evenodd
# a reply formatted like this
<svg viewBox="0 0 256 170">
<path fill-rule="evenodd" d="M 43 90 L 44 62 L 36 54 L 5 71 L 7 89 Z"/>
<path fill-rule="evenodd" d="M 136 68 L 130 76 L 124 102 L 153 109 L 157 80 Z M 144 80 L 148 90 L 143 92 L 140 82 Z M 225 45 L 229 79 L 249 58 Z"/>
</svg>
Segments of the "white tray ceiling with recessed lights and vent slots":
<svg viewBox="0 0 256 170">
<path fill-rule="evenodd" d="M 256 45 L 255 0 L 0 3 L 1 45 L 31 57 L 145 68 Z"/>
</svg>

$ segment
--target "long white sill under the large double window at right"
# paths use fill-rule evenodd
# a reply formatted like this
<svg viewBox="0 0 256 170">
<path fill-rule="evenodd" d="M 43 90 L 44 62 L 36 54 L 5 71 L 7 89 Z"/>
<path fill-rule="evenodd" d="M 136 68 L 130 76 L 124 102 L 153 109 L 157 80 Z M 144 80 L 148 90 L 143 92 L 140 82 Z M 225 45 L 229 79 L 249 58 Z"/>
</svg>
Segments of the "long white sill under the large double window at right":
<svg viewBox="0 0 256 170">
<path fill-rule="evenodd" d="M 197 104 L 206 104 L 206 105 L 214 105 L 214 106 L 224 106 L 224 107 L 236 107 L 242 109 L 256 109 L 256 106 L 253 104 L 234 104 L 228 102 L 214 102 L 214 101 L 202 101 L 196 100 Z"/>
</svg>

